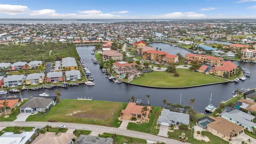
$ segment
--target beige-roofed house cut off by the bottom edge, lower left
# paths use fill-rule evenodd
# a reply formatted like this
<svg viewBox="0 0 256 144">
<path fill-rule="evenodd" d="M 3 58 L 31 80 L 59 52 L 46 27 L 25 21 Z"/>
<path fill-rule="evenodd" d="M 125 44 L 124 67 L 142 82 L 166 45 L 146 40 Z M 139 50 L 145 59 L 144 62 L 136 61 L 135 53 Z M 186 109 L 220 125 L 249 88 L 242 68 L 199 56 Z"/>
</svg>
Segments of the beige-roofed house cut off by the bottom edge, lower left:
<svg viewBox="0 0 256 144">
<path fill-rule="evenodd" d="M 74 134 L 58 132 L 46 132 L 39 134 L 32 144 L 73 144 Z M 84 143 L 85 144 L 85 143 Z"/>
</svg>

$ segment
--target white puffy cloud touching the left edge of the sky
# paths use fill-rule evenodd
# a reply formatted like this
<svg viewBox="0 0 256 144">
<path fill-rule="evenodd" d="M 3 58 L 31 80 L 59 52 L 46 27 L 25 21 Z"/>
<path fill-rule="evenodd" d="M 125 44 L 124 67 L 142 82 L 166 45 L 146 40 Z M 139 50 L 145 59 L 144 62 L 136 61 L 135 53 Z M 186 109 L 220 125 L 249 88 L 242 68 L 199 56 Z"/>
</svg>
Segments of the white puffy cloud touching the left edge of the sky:
<svg viewBox="0 0 256 144">
<path fill-rule="evenodd" d="M 0 13 L 3 14 L 25 14 L 28 11 L 27 6 L 0 4 Z"/>
</svg>

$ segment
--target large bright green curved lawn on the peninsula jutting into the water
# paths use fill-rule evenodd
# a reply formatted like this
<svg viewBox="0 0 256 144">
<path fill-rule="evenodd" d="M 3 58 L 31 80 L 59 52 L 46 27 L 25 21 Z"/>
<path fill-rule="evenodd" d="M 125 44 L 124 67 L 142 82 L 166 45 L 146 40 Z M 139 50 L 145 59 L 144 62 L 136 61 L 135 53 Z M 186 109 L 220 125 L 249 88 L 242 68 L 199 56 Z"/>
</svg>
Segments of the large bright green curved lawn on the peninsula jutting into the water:
<svg viewBox="0 0 256 144">
<path fill-rule="evenodd" d="M 156 87 L 182 87 L 228 81 L 215 76 L 192 72 L 190 69 L 177 68 L 176 72 L 180 75 L 179 77 L 174 77 L 174 74 L 168 72 L 153 71 L 133 79 L 130 83 Z"/>
</svg>

